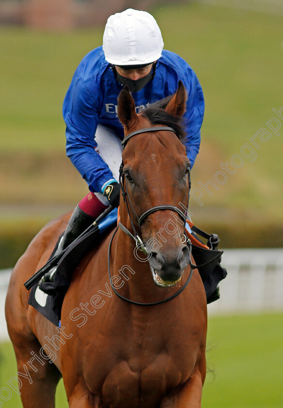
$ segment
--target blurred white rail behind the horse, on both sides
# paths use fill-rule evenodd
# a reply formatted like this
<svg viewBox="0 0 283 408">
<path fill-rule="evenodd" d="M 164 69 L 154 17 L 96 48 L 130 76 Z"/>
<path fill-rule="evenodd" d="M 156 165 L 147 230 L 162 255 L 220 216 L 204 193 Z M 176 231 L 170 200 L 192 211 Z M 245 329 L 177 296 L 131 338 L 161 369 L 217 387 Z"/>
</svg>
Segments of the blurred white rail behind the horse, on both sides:
<svg viewBox="0 0 283 408">
<path fill-rule="evenodd" d="M 283 249 L 226 249 L 221 264 L 228 275 L 209 314 L 283 310 Z M 0 271 L 0 341 L 8 339 L 4 304 L 11 271 Z"/>
</svg>

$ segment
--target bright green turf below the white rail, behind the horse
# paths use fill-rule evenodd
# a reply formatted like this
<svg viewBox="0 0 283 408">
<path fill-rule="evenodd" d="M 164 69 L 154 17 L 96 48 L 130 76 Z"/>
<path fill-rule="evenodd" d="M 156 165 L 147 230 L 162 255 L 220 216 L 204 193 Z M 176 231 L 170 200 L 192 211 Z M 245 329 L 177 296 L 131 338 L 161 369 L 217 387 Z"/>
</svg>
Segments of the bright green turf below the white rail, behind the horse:
<svg viewBox="0 0 283 408">
<path fill-rule="evenodd" d="M 208 319 L 203 408 L 282 408 L 282 322 L 282 313 Z M 0 388 L 16 371 L 12 345 L 0 344 Z M 3 408 L 20 407 L 19 401 L 14 391 Z M 67 407 L 62 380 L 56 401 Z"/>
</svg>

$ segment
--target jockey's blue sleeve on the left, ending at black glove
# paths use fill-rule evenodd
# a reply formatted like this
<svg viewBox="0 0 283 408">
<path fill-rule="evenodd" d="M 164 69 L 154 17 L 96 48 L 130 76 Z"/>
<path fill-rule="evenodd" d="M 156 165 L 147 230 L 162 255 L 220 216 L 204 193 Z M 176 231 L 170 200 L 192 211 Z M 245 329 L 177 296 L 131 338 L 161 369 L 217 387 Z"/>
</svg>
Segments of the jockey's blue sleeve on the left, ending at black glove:
<svg viewBox="0 0 283 408">
<path fill-rule="evenodd" d="M 99 92 L 97 91 L 97 95 Z M 101 192 L 105 182 L 113 178 L 108 165 L 94 148 L 98 123 L 98 103 L 87 85 L 76 74 L 63 103 L 66 123 L 66 152 L 76 169 L 94 192 Z"/>
</svg>

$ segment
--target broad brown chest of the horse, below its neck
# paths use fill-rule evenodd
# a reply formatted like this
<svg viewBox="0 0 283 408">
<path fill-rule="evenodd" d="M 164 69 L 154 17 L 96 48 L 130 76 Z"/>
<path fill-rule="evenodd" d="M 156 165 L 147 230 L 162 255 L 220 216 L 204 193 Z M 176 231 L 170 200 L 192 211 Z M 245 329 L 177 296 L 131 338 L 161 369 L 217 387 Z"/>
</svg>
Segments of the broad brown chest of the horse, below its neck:
<svg viewBox="0 0 283 408">
<path fill-rule="evenodd" d="M 158 407 L 205 347 L 205 313 L 186 299 L 141 308 L 109 298 L 83 327 L 72 361 L 98 407 Z"/>
</svg>

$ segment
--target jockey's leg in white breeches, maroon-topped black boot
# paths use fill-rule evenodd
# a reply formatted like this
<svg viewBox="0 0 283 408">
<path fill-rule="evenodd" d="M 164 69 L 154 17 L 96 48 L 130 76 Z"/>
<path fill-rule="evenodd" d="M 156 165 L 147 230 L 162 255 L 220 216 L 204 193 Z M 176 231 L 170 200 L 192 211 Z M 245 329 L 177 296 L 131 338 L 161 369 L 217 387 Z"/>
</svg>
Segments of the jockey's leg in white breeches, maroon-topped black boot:
<svg viewBox="0 0 283 408">
<path fill-rule="evenodd" d="M 109 128 L 98 125 L 95 133 L 95 141 L 97 143 L 97 147 L 95 148 L 96 153 L 108 164 L 113 177 L 118 181 L 119 166 L 122 162 L 121 140 Z M 54 256 L 58 255 L 78 238 L 108 206 L 109 202 L 102 193 L 88 193 L 79 202 L 71 215 Z M 40 289 L 44 290 L 44 288 L 41 287 L 41 283 L 53 282 L 55 272 L 56 267 L 50 269 L 50 271 L 42 277 L 39 283 Z"/>
</svg>

